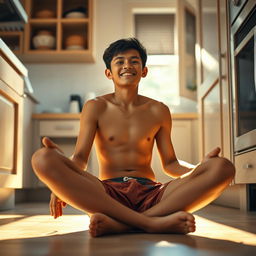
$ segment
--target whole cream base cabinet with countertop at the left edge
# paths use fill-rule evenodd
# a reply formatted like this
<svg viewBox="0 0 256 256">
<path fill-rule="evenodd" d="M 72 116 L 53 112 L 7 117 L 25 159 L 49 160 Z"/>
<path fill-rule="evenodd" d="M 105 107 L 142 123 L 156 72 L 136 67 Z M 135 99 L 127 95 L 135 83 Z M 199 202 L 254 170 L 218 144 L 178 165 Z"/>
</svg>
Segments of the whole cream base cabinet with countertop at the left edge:
<svg viewBox="0 0 256 256">
<path fill-rule="evenodd" d="M 27 70 L 0 39 L 0 209 L 14 207 L 22 187 L 23 77 Z"/>
</svg>

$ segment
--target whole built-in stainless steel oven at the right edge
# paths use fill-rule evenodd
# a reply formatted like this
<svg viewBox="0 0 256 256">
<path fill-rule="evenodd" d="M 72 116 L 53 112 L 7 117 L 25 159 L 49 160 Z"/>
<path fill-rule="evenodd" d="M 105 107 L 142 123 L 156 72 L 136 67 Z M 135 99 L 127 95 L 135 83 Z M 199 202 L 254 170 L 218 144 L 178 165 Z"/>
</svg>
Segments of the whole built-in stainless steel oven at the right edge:
<svg viewBox="0 0 256 256">
<path fill-rule="evenodd" d="M 231 27 L 234 152 L 256 148 L 256 1 L 248 0 Z"/>
</svg>

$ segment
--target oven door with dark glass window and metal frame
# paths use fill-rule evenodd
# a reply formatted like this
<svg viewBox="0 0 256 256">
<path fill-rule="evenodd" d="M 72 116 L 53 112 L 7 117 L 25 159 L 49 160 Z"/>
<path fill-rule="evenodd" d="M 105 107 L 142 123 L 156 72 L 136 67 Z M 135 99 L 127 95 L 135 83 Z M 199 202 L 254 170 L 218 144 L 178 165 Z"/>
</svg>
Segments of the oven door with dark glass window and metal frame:
<svg viewBox="0 0 256 256">
<path fill-rule="evenodd" d="M 245 33 L 243 28 L 239 33 Z M 234 146 L 241 152 L 256 146 L 256 26 L 234 48 L 233 58 Z"/>
</svg>

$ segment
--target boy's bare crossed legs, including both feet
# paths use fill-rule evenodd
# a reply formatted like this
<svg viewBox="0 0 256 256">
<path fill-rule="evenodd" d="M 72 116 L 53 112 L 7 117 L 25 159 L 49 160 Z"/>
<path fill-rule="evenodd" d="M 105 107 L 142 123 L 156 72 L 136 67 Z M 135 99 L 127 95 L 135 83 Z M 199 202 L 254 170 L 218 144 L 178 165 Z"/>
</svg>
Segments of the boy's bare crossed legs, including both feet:
<svg viewBox="0 0 256 256">
<path fill-rule="evenodd" d="M 96 177 L 78 168 L 53 148 L 38 150 L 33 155 L 32 165 L 37 176 L 61 200 L 93 214 L 92 236 L 132 229 L 149 233 L 193 232 L 194 217 L 188 211 L 214 200 L 234 175 L 234 167 L 228 160 L 212 158 L 187 177 L 172 181 L 157 205 L 138 213 L 107 195 Z"/>
</svg>

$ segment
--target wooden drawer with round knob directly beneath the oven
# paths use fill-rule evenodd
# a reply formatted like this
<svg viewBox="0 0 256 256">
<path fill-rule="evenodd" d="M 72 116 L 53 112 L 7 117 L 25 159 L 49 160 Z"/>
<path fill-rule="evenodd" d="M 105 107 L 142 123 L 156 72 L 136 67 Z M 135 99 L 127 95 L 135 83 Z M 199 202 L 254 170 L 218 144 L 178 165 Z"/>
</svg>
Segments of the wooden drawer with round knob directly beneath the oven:
<svg viewBox="0 0 256 256">
<path fill-rule="evenodd" d="M 235 156 L 235 183 L 256 183 L 256 151 Z"/>
</svg>

